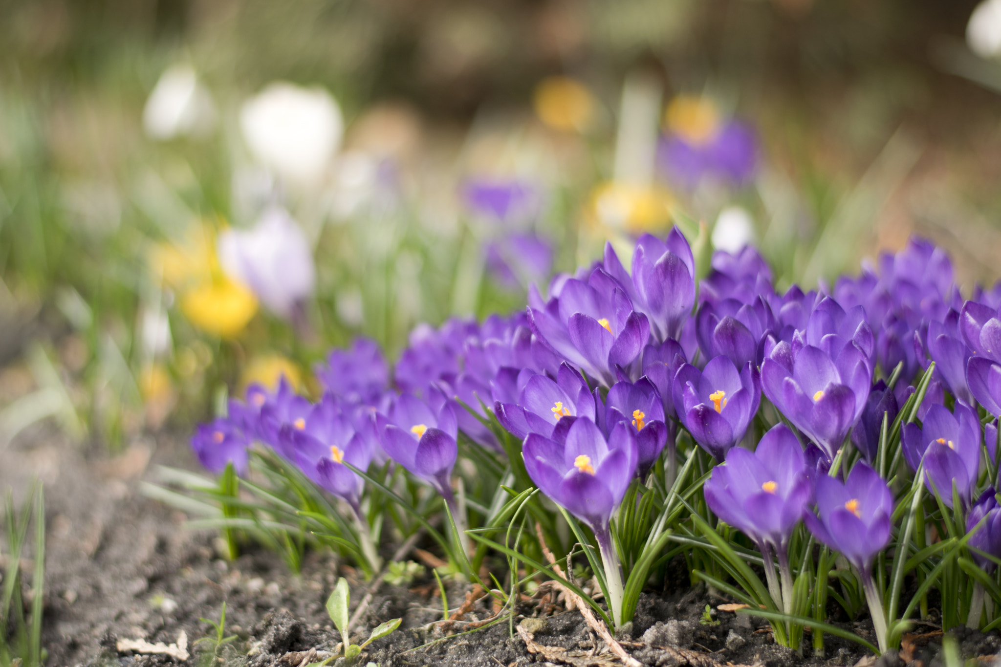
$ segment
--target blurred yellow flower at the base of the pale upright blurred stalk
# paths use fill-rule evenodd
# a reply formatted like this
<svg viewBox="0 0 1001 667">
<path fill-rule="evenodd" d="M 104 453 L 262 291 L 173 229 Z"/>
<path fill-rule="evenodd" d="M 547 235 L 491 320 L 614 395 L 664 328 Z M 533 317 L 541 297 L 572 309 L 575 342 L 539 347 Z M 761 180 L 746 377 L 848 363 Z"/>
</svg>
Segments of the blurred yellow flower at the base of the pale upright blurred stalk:
<svg viewBox="0 0 1001 667">
<path fill-rule="evenodd" d="M 640 234 L 671 227 L 675 198 L 663 188 L 609 181 L 591 197 L 591 213 L 603 227 Z"/>
</svg>

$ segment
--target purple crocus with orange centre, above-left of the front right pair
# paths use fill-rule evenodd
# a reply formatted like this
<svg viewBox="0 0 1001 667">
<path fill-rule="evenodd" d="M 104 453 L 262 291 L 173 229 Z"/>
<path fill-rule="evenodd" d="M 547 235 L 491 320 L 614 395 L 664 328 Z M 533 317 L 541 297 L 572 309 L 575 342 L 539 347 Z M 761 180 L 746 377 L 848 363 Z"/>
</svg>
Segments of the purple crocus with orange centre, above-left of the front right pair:
<svg viewBox="0 0 1001 667">
<path fill-rule="evenodd" d="M 722 463 L 758 412 L 761 379 L 750 362 L 738 373 L 734 362 L 720 356 L 702 371 L 691 364 L 679 368 L 672 392 L 682 424 Z"/>
</svg>

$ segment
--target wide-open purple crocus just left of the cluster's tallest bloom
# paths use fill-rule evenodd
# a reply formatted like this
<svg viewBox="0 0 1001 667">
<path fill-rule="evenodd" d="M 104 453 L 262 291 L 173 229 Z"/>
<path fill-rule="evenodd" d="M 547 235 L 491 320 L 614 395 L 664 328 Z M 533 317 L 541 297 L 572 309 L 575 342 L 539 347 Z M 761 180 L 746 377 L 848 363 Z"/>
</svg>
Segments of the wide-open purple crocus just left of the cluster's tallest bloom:
<svg viewBox="0 0 1001 667">
<path fill-rule="evenodd" d="M 587 282 L 570 278 L 544 309 L 529 308 L 532 331 L 558 355 L 611 387 L 620 372 L 639 375 L 637 363 L 650 323 L 623 287 L 602 269 Z"/>
</svg>

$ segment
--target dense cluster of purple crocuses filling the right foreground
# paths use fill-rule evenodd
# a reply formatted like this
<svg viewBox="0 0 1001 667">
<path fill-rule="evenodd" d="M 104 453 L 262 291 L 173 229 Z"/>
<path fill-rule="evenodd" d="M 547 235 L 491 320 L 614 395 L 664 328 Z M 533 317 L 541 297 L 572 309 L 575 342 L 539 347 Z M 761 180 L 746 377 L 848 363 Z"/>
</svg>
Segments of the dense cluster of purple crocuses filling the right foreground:
<svg viewBox="0 0 1001 667">
<path fill-rule="evenodd" d="M 789 548 L 805 526 L 857 571 L 883 645 L 874 562 L 893 536 L 891 463 L 906 462 L 970 530 L 988 517 L 971 545 L 1001 556 L 987 489 L 997 429 L 978 413 L 1001 416 L 997 290 L 964 302 L 948 257 L 919 239 L 833 289 L 778 291 L 750 247 L 718 251 L 700 273 L 678 228 L 640 237 L 630 270 L 609 245 L 548 296 L 533 287 L 525 313 L 417 327 L 391 371 L 371 341 L 331 352 L 315 403 L 286 383 L 252 387 L 194 448 L 211 470 L 244 472 L 248 446 L 262 443 L 356 513 L 363 484 L 345 464 L 391 460 L 454 515 L 460 439 L 502 461 L 518 452 L 531 481 L 594 533 L 617 622 L 613 519 L 631 486 L 668 488 L 677 457 L 702 456 L 716 466 L 706 504 L 759 548 L 776 604 L 790 613 Z"/>
</svg>

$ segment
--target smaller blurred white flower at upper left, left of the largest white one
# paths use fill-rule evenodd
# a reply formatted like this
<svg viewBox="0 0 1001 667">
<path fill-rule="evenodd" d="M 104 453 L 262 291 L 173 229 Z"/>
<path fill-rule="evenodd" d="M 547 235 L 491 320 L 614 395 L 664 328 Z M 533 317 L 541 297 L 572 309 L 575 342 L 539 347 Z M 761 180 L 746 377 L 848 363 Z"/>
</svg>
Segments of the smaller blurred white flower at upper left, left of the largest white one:
<svg viewBox="0 0 1001 667">
<path fill-rule="evenodd" d="M 188 65 L 167 69 L 156 82 L 142 111 L 142 127 L 159 141 L 205 136 L 215 127 L 212 98 Z"/>
</svg>

